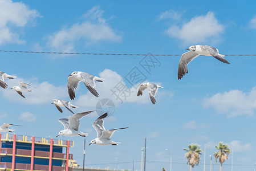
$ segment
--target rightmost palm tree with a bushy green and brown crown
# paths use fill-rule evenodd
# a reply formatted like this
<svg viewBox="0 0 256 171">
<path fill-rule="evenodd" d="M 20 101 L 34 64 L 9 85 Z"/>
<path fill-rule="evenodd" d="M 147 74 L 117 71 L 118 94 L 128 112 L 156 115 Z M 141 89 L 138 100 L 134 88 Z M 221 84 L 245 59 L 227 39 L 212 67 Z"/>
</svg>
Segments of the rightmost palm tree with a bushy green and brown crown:
<svg viewBox="0 0 256 171">
<path fill-rule="evenodd" d="M 218 151 L 214 153 L 215 161 L 217 162 L 217 159 L 220 161 L 220 171 L 222 171 L 222 164 L 225 160 L 229 159 L 230 149 L 229 146 L 227 144 L 223 144 L 223 142 L 216 145 L 216 148 Z"/>
</svg>

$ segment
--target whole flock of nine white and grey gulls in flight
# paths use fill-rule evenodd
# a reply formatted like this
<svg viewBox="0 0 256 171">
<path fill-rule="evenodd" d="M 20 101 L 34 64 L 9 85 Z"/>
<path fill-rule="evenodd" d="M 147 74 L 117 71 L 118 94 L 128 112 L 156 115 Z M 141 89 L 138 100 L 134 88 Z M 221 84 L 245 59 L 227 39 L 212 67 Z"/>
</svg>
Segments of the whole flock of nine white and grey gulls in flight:
<svg viewBox="0 0 256 171">
<path fill-rule="evenodd" d="M 218 52 L 217 48 L 205 45 L 196 45 L 196 46 L 190 46 L 186 50 L 189 50 L 188 52 L 185 52 L 184 54 L 181 55 L 180 63 L 178 64 L 178 79 L 181 79 L 185 74 L 188 74 L 188 64 L 194 59 L 197 58 L 199 55 L 205 55 L 205 56 L 213 56 L 214 58 L 220 60 L 221 62 L 224 62 L 226 64 L 230 64 L 227 62 L 225 58 L 223 58 L 225 55 L 221 55 Z M 2 88 L 7 88 L 7 84 L 5 83 L 5 79 L 14 79 L 17 78 L 17 76 L 13 75 L 8 75 L 5 72 L 0 71 L 0 86 Z M 96 82 L 103 82 L 104 79 L 98 78 L 97 76 L 88 74 L 86 72 L 80 72 L 80 71 L 75 71 L 72 72 L 71 75 L 68 75 L 68 83 L 67 83 L 67 88 L 68 88 L 68 95 L 70 96 L 71 100 L 75 99 L 75 89 L 78 87 L 78 84 L 80 82 L 83 82 L 87 89 L 92 93 L 92 95 L 99 97 L 99 93 L 96 91 L 95 87 L 95 81 Z M 27 83 L 22 83 L 19 82 L 19 86 L 14 86 L 11 89 L 14 89 L 19 95 L 21 95 L 23 98 L 25 96 L 22 94 L 22 92 L 31 92 L 32 90 L 27 89 L 27 86 L 31 86 L 30 84 Z M 31 86 L 33 87 L 33 86 Z M 35 87 L 34 87 L 35 88 Z M 143 91 L 148 88 L 149 92 L 149 97 L 151 99 L 152 104 L 156 104 L 156 92 L 159 88 L 163 88 L 157 84 L 154 83 L 143 83 L 139 87 L 137 96 L 143 95 Z M 59 119 L 59 122 L 63 124 L 64 129 L 59 132 L 59 134 L 56 136 L 87 136 L 87 133 L 80 132 L 79 129 L 79 120 L 82 119 L 84 116 L 90 114 L 91 112 L 95 111 L 87 111 L 87 112 L 82 112 L 82 113 L 74 113 L 71 108 L 78 108 L 75 105 L 71 104 L 70 101 L 66 100 L 59 100 L 59 99 L 53 99 L 53 103 L 55 104 L 56 108 L 59 110 L 59 112 L 63 112 L 61 107 L 65 107 L 70 111 L 72 116 L 68 117 L 68 119 Z M 118 145 L 119 143 L 111 141 L 111 137 L 113 136 L 113 133 L 119 129 L 126 129 L 125 128 L 117 128 L 117 129 L 109 129 L 106 130 L 104 128 L 104 119 L 105 117 L 108 116 L 108 113 L 104 113 L 100 117 L 98 117 L 94 123 L 92 124 L 92 127 L 97 132 L 97 137 L 96 139 L 91 140 L 91 144 L 97 144 L 97 145 Z M 9 129 L 11 125 L 15 124 L 6 124 L 4 123 L 0 127 L 0 132 L 13 132 L 13 129 Z M 15 126 L 20 126 L 20 125 L 15 125 Z"/>
</svg>

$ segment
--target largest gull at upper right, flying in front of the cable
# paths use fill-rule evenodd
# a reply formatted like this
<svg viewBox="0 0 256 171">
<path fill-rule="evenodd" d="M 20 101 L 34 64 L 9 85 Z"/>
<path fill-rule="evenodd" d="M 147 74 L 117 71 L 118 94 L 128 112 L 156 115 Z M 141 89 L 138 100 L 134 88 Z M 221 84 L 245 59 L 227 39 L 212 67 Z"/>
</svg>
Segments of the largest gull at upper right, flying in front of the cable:
<svg viewBox="0 0 256 171">
<path fill-rule="evenodd" d="M 188 74 L 188 64 L 194 58 L 197 58 L 197 56 L 199 55 L 213 56 L 214 58 L 220 60 L 221 62 L 230 64 L 229 62 L 227 62 L 225 58 L 223 58 L 225 55 L 219 54 L 218 49 L 212 46 L 195 45 L 195 46 L 190 46 L 186 50 L 190 50 L 190 51 L 185 52 L 184 54 L 181 55 L 180 63 L 178 64 L 178 79 L 181 79 L 186 73 Z"/>
</svg>

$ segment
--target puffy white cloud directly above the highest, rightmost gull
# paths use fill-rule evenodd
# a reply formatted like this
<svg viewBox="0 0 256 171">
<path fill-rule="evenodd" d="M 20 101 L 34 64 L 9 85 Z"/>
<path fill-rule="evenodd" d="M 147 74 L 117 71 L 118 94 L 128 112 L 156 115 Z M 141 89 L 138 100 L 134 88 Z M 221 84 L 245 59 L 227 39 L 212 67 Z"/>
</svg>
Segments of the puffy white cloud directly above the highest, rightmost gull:
<svg viewBox="0 0 256 171">
<path fill-rule="evenodd" d="M 180 39 L 185 45 L 195 43 L 216 42 L 224 32 L 224 26 L 214 17 L 214 13 L 208 12 L 192 18 L 181 27 L 172 25 L 166 31 L 171 37 Z"/>
</svg>

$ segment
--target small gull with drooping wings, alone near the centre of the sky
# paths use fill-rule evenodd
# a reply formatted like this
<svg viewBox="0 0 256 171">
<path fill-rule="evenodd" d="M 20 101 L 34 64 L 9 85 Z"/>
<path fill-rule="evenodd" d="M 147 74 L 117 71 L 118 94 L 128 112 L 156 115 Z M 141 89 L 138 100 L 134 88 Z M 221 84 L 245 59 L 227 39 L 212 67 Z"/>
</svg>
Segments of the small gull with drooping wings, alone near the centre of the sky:
<svg viewBox="0 0 256 171">
<path fill-rule="evenodd" d="M 144 91 L 144 89 L 148 88 L 150 100 L 152 101 L 153 104 L 156 104 L 155 96 L 156 96 L 157 89 L 159 89 L 159 87 L 161 86 L 154 83 L 143 83 L 140 85 L 137 96 L 142 95 L 142 92 Z M 161 87 L 161 88 L 164 88 L 164 87 Z"/>
</svg>

